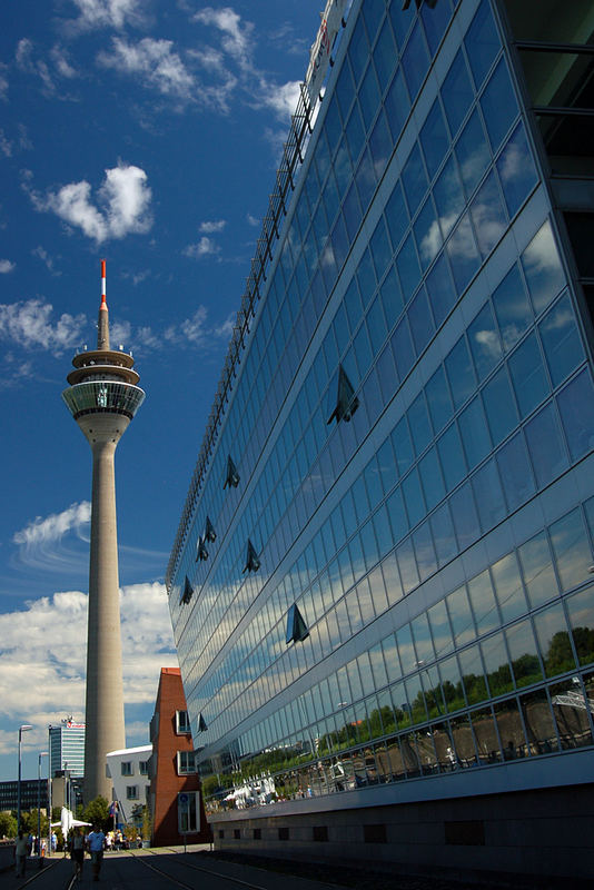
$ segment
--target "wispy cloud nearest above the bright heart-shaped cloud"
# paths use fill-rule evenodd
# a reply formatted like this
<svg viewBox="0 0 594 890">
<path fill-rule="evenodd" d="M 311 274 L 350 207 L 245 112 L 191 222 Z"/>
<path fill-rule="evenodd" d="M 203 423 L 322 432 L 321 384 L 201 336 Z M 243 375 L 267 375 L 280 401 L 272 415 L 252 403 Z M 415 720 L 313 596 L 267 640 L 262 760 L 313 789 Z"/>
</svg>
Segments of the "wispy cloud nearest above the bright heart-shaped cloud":
<svg viewBox="0 0 594 890">
<path fill-rule="evenodd" d="M 178 53 L 172 51 L 171 40 L 154 40 L 146 37 L 132 44 L 123 38 L 115 37 L 111 42 L 111 53 L 100 52 L 97 57 L 97 61 L 103 68 L 141 75 L 143 85 L 155 87 L 164 96 L 192 98 L 195 78 Z"/>
</svg>

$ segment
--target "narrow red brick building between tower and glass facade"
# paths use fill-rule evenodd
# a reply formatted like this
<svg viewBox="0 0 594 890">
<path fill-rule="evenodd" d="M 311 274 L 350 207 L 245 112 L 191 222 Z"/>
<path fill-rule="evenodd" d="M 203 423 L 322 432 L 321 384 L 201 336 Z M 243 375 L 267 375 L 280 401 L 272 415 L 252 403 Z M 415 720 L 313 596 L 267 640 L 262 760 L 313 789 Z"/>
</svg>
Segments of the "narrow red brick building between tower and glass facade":
<svg viewBox="0 0 594 890">
<path fill-rule="evenodd" d="M 151 844 L 210 841 L 179 668 L 161 668 L 150 741 Z"/>
</svg>

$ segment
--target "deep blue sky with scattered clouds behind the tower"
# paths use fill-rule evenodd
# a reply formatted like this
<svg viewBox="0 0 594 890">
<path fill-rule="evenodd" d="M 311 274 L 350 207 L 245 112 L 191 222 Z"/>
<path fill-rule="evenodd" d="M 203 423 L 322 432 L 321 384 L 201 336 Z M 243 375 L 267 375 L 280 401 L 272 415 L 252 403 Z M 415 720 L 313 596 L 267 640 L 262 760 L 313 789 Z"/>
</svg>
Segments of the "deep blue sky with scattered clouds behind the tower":
<svg viewBox="0 0 594 890">
<path fill-rule="evenodd" d="M 321 0 L 10 0 L 0 13 L 0 780 L 85 699 L 90 451 L 61 399 L 111 344 L 129 744 L 176 664 L 162 580 Z"/>
</svg>

